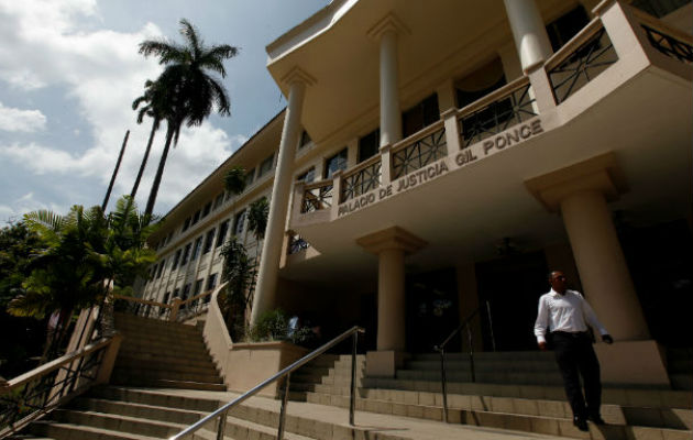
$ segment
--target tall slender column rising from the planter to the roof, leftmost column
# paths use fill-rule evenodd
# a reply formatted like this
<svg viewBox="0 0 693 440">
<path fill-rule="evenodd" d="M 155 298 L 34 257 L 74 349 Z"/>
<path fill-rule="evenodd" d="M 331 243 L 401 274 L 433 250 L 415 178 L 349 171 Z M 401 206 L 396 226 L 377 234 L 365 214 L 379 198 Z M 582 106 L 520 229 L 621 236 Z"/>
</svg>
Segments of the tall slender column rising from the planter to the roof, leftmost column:
<svg viewBox="0 0 693 440">
<path fill-rule="evenodd" d="M 251 312 L 251 326 L 260 316 L 275 306 L 276 287 L 284 242 L 284 228 L 292 190 L 294 157 L 301 134 L 300 114 L 306 85 L 312 80 L 302 70 L 295 68 L 284 78 L 289 84 L 288 106 L 284 117 L 284 129 L 279 143 L 279 155 L 272 187 L 272 204 L 267 217 L 267 229 L 260 260 L 257 286 Z"/>
</svg>

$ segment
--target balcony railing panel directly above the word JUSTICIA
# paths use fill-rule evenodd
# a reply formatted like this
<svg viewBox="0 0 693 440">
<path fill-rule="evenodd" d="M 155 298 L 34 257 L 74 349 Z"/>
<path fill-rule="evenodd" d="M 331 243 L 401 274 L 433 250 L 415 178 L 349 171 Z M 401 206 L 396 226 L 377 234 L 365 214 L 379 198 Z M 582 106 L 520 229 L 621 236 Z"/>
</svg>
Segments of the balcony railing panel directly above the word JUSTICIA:
<svg viewBox="0 0 693 440">
<path fill-rule="evenodd" d="M 405 176 L 447 155 L 446 127 L 439 121 L 393 146 L 392 178 Z"/>
</svg>

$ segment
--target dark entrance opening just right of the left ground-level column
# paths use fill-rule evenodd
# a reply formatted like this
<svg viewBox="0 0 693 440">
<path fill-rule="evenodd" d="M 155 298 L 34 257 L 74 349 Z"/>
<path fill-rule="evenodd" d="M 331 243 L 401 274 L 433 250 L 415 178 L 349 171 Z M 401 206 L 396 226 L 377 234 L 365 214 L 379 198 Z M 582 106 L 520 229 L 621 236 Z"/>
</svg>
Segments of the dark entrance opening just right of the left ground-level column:
<svg viewBox="0 0 693 440">
<path fill-rule="evenodd" d="M 407 276 L 407 350 L 430 353 L 460 323 L 453 268 Z M 451 341 L 451 346 L 459 342 Z"/>
</svg>

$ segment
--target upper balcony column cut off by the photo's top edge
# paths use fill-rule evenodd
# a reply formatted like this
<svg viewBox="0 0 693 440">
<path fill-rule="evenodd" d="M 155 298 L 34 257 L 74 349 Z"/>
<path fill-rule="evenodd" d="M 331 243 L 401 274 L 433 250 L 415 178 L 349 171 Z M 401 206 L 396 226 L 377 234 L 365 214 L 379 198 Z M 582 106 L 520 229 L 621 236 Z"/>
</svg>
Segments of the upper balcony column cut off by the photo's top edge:
<svg viewBox="0 0 693 440">
<path fill-rule="evenodd" d="M 515 46 L 527 73 L 551 56 L 551 43 L 536 0 L 504 0 Z"/>
</svg>

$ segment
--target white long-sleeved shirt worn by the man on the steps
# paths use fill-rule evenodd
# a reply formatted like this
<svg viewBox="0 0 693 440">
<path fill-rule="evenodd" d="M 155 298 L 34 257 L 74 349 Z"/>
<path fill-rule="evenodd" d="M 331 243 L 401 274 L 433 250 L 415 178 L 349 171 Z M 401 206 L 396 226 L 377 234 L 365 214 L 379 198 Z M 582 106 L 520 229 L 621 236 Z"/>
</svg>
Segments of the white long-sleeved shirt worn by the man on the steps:
<svg viewBox="0 0 693 440">
<path fill-rule="evenodd" d="M 551 289 L 539 298 L 539 312 L 535 322 L 537 342 L 546 342 L 547 329 L 575 333 L 586 331 L 587 324 L 602 336 L 608 334 L 579 292 L 565 290 L 565 294 L 561 295 Z"/>
</svg>

